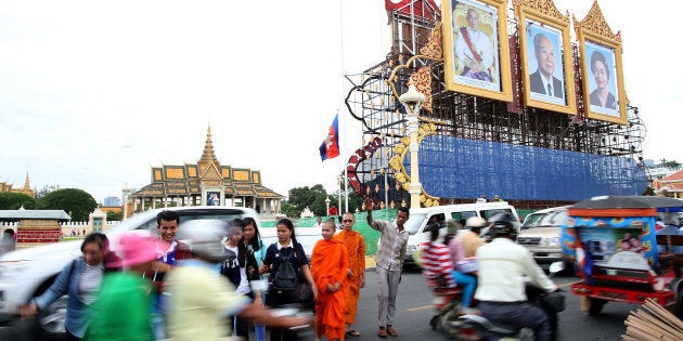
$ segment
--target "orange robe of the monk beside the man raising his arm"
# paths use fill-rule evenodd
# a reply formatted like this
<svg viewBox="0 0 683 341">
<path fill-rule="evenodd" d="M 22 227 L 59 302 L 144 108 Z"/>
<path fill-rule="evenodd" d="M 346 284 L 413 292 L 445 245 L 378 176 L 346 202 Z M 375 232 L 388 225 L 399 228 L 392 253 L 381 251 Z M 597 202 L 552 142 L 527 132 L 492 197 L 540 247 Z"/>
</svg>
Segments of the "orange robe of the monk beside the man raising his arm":
<svg viewBox="0 0 683 341">
<path fill-rule="evenodd" d="M 349 252 L 349 268 L 353 272 L 353 276 L 346 276 L 346 281 L 344 281 L 344 290 L 346 291 L 345 320 L 348 325 L 352 325 L 356 323 L 356 311 L 360 298 L 360 275 L 365 271 L 365 239 L 360 232 L 346 229 L 334 235 L 334 238 L 346 245 L 346 250 Z"/>
</svg>

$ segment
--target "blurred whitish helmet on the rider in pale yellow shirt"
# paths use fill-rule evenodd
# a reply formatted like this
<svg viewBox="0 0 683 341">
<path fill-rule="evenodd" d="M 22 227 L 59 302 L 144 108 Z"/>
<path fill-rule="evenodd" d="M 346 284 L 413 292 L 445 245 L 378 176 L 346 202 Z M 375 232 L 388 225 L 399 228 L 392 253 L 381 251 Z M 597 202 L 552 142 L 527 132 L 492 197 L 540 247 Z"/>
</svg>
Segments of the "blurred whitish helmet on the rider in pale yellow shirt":
<svg viewBox="0 0 683 341">
<path fill-rule="evenodd" d="M 216 261 L 225 260 L 221 239 L 228 234 L 230 224 L 216 219 L 197 219 L 183 222 L 177 238 L 185 242 L 190 251 Z"/>
</svg>

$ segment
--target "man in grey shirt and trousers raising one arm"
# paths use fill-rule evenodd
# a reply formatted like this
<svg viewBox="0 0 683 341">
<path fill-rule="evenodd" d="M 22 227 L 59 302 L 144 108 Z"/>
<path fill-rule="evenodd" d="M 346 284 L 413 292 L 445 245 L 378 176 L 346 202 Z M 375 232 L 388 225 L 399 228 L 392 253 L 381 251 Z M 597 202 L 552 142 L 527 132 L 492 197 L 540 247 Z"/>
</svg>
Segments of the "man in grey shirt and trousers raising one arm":
<svg viewBox="0 0 683 341">
<path fill-rule="evenodd" d="M 376 221 L 372 218 L 374 202 L 365 198 L 365 210 L 368 211 L 368 224 L 370 227 L 382 234 L 379 248 L 375 261 L 377 263 L 377 323 L 379 324 L 379 338 L 386 338 L 387 333 L 398 337 L 398 331 L 391 327 L 396 315 L 396 292 L 401 283 L 401 268 L 405 257 L 405 245 L 408 244 L 408 231 L 403 224 L 408 221 L 409 209 L 399 208 L 396 213 L 396 223 Z"/>
</svg>

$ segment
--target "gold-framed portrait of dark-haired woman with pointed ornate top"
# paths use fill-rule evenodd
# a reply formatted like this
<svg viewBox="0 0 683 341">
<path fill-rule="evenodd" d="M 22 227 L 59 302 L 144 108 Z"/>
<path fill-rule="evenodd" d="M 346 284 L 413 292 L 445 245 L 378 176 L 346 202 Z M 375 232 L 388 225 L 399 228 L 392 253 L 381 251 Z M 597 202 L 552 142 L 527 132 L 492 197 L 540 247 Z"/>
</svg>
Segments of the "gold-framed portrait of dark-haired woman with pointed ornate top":
<svg viewBox="0 0 683 341">
<path fill-rule="evenodd" d="M 581 54 L 585 117 L 627 124 L 627 97 L 621 64 L 621 34 L 614 34 L 597 8 L 574 24 Z"/>
</svg>

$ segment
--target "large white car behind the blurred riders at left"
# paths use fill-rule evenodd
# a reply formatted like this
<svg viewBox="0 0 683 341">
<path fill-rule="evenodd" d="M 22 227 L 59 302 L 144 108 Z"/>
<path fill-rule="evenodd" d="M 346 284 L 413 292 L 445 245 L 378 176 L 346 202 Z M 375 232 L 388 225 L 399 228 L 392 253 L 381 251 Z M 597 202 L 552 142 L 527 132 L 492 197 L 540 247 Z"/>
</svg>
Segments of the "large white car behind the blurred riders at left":
<svg viewBox="0 0 683 341">
<path fill-rule="evenodd" d="M 260 225 L 255 210 L 241 207 L 176 207 L 155 209 L 132 215 L 113 229 L 106 232 L 112 246 L 116 245 L 117 236 L 127 231 L 157 232 L 156 214 L 163 210 L 177 211 L 180 225 L 195 219 L 232 220 L 235 218 L 254 218 Z M 82 241 L 54 242 L 44 246 L 20 249 L 0 257 L 0 323 L 15 319 L 13 316 L 17 307 L 31 298 L 47 290 L 56 275 L 73 259 L 81 255 Z M 66 301 L 64 296 L 44 311 L 33 326 L 37 332 L 36 340 L 63 339 L 65 336 L 64 318 L 66 316 Z"/>
</svg>

